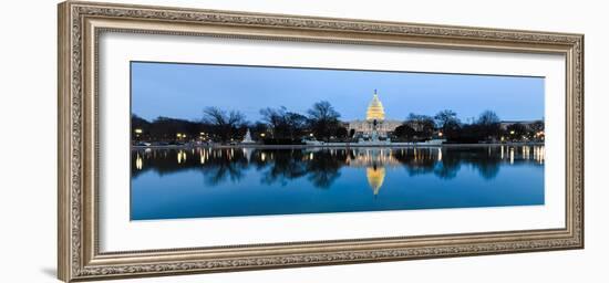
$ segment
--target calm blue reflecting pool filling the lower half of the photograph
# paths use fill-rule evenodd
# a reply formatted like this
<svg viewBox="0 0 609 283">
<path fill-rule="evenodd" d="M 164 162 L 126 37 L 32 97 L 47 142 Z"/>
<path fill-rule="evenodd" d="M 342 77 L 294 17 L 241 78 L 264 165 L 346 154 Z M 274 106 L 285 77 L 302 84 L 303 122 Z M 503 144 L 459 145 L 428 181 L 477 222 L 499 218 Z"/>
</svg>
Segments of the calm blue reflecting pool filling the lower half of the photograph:
<svg viewBox="0 0 609 283">
<path fill-rule="evenodd" d="M 131 154 L 132 220 L 544 205 L 544 146 Z"/>
</svg>

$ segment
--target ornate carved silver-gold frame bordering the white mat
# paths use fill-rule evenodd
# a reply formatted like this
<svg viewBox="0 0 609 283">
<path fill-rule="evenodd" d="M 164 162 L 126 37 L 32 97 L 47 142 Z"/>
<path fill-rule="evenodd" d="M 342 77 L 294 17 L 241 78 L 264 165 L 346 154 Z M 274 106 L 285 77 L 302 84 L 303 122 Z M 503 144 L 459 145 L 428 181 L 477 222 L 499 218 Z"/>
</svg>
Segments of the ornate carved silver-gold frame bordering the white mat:
<svg viewBox="0 0 609 283">
<path fill-rule="evenodd" d="M 109 105 L 100 104 L 99 50 L 107 33 L 562 55 L 565 226 L 104 252 L 99 113 Z M 584 248 L 582 34 L 68 1 L 59 6 L 58 80 L 58 273 L 65 282 Z"/>
</svg>

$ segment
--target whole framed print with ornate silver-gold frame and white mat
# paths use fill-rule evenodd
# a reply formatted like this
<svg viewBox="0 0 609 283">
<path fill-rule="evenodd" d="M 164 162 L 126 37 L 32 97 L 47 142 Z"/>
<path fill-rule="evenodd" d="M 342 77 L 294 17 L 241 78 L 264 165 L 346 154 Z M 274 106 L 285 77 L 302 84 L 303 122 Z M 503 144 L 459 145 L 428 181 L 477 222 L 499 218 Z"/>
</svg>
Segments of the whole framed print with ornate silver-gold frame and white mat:
<svg viewBox="0 0 609 283">
<path fill-rule="evenodd" d="M 59 277 L 584 248 L 584 35 L 59 6 Z"/>
</svg>

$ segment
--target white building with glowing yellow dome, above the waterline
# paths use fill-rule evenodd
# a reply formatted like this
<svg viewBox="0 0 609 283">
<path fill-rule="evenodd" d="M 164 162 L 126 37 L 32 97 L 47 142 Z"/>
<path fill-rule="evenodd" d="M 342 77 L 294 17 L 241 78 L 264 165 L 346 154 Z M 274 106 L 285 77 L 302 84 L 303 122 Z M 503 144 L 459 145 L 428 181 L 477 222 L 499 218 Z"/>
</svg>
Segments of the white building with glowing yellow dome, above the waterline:
<svg viewBox="0 0 609 283">
<path fill-rule="evenodd" d="M 360 140 L 379 140 L 379 138 L 388 138 L 389 133 L 395 130 L 400 125 L 402 125 L 401 120 L 385 119 L 383 104 L 374 90 L 372 101 L 365 112 L 365 119 L 349 122 L 348 133 Z"/>
</svg>

